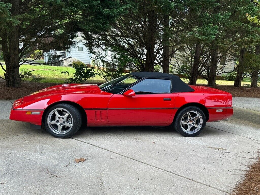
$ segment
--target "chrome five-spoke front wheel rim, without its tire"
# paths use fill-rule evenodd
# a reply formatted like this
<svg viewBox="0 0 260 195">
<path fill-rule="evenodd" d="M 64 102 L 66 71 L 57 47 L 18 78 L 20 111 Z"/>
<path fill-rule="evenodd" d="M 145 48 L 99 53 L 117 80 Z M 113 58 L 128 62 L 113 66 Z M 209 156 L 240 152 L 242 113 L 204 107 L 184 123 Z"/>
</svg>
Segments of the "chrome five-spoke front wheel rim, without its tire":
<svg viewBox="0 0 260 195">
<path fill-rule="evenodd" d="M 64 108 L 53 109 L 49 113 L 47 120 L 50 130 L 58 135 L 68 133 L 73 126 L 72 114 Z"/>
</svg>

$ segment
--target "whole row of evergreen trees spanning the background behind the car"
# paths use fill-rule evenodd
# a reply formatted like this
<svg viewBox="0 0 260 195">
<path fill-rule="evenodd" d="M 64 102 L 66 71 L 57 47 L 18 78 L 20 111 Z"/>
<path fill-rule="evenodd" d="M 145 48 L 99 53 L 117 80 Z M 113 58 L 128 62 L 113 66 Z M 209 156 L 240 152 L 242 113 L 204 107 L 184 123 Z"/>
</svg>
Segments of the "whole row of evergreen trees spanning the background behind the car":
<svg viewBox="0 0 260 195">
<path fill-rule="evenodd" d="M 203 77 L 215 86 L 232 62 L 235 86 L 251 77 L 251 86 L 257 87 L 259 9 L 251 0 L 5 0 L 0 2 L 3 79 L 8 87 L 21 87 L 22 64 L 50 49 L 69 49 L 81 32 L 106 80 L 125 69 L 161 67 L 186 76 L 190 84 Z M 34 59 L 23 59 L 36 47 Z M 99 50 L 111 51 L 112 61 Z"/>
</svg>

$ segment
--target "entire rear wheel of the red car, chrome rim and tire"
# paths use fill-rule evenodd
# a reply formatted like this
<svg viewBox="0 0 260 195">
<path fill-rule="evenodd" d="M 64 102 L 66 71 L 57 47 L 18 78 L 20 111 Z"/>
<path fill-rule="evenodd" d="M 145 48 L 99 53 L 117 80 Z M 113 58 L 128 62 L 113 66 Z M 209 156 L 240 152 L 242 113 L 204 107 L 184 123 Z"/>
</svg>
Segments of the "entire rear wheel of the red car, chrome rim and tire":
<svg viewBox="0 0 260 195">
<path fill-rule="evenodd" d="M 203 111 L 195 106 L 182 109 L 174 120 L 174 128 L 186 137 L 200 134 L 205 127 L 206 117 Z"/>
</svg>

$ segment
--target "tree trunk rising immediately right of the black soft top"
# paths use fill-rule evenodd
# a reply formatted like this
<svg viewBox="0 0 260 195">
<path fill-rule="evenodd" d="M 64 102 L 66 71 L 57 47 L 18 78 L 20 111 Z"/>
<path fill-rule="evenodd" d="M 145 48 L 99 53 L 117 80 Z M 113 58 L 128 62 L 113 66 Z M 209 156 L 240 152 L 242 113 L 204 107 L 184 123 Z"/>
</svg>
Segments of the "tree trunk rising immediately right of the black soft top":
<svg viewBox="0 0 260 195">
<path fill-rule="evenodd" d="M 200 61 L 200 50 L 201 50 L 201 44 L 197 42 L 195 46 L 193 66 L 191 69 L 190 85 L 196 85 L 197 83 L 198 68 L 199 68 L 199 61 Z"/>
</svg>

